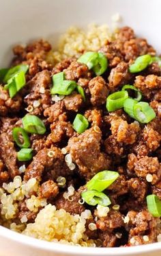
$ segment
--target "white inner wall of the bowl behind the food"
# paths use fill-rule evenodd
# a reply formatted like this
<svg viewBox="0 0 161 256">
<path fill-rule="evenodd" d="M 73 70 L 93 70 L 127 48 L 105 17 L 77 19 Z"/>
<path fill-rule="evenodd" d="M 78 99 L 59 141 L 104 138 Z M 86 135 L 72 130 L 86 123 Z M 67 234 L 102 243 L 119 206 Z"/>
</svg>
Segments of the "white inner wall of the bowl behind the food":
<svg viewBox="0 0 161 256">
<path fill-rule="evenodd" d="M 160 50 L 160 0 L 14 0 L 1 3 L 0 15 L 0 67 L 10 62 L 11 47 L 27 43 L 34 38 L 57 38 L 71 25 L 89 23 L 111 25 L 111 16 L 121 14 L 120 25 L 129 25 L 136 34 L 149 40 Z"/>
</svg>

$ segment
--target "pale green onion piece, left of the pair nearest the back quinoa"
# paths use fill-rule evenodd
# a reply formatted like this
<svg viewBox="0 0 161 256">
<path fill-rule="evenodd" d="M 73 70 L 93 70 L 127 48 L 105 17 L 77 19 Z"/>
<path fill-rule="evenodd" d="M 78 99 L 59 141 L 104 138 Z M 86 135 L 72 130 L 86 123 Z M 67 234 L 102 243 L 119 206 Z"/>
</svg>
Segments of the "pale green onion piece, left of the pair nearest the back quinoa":
<svg viewBox="0 0 161 256">
<path fill-rule="evenodd" d="M 98 64 L 98 52 L 87 51 L 77 61 L 86 64 L 89 69 L 92 69 Z"/>
</svg>

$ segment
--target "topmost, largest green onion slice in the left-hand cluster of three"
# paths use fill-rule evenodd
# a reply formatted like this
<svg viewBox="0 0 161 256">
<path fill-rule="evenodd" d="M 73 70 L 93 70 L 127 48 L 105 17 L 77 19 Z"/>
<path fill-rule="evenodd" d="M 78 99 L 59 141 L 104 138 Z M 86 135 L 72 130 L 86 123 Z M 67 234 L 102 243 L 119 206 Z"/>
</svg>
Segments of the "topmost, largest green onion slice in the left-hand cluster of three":
<svg viewBox="0 0 161 256">
<path fill-rule="evenodd" d="M 38 135 L 44 135 L 46 132 L 46 127 L 44 126 L 43 121 L 36 117 L 36 115 L 25 115 L 22 118 L 23 121 L 23 128 L 30 133 L 35 133 Z"/>
</svg>

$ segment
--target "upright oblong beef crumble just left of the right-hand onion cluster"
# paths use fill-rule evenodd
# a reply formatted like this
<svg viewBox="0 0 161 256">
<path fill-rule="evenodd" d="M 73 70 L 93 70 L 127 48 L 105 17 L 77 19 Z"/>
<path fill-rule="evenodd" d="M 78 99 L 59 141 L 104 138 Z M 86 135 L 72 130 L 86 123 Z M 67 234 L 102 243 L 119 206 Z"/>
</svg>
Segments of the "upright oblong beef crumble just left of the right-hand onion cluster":
<svg viewBox="0 0 161 256">
<path fill-rule="evenodd" d="M 101 76 L 91 79 L 89 82 L 89 92 L 91 93 L 91 104 L 93 106 L 99 106 L 106 102 L 108 89 L 106 82 Z"/>
</svg>

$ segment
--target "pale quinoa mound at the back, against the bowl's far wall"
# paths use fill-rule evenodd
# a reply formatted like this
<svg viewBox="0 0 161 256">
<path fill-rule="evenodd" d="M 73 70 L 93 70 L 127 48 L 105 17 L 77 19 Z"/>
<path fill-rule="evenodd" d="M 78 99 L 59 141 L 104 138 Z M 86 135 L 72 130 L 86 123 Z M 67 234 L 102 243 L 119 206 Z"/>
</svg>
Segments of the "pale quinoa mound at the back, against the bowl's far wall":
<svg viewBox="0 0 161 256">
<path fill-rule="evenodd" d="M 47 60 L 57 63 L 65 58 L 78 58 L 84 51 L 98 51 L 112 37 L 113 33 L 107 25 L 90 24 L 87 30 L 70 27 L 61 36 L 58 49 L 49 52 Z"/>
</svg>

